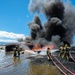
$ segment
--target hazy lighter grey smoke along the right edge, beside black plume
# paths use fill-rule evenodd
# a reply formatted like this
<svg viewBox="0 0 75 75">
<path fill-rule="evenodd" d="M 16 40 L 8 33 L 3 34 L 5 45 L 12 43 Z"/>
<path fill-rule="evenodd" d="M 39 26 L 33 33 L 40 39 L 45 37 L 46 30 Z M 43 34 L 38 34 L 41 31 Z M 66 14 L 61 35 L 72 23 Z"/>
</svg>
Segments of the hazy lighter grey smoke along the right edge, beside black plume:
<svg viewBox="0 0 75 75">
<path fill-rule="evenodd" d="M 75 35 L 75 7 L 71 5 L 71 2 L 68 1 L 65 4 L 65 14 L 63 20 L 63 26 L 66 28 L 67 33 L 63 40 L 72 43 L 72 39 Z"/>
</svg>

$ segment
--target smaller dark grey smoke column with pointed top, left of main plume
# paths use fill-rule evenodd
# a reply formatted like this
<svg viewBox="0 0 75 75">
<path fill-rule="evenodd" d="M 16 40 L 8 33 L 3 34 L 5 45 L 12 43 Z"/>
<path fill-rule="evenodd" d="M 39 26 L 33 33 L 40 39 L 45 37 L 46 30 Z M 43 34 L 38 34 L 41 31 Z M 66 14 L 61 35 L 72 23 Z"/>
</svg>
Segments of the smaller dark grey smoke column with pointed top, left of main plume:
<svg viewBox="0 0 75 75">
<path fill-rule="evenodd" d="M 32 40 L 35 40 L 36 38 L 41 38 L 41 37 L 45 36 L 41 21 L 37 15 L 35 15 L 33 22 L 30 22 L 28 24 L 28 26 L 31 30 Z"/>
</svg>

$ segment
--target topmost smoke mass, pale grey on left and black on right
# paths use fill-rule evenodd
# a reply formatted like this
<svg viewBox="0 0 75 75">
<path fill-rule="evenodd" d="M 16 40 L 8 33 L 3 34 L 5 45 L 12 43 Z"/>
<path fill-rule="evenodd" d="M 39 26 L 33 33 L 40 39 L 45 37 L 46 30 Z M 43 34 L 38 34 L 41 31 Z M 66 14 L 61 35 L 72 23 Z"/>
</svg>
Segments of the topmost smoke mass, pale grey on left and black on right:
<svg viewBox="0 0 75 75">
<path fill-rule="evenodd" d="M 60 0 L 30 0 L 31 12 L 43 12 L 48 19 L 51 17 L 63 18 L 64 6 Z"/>
</svg>

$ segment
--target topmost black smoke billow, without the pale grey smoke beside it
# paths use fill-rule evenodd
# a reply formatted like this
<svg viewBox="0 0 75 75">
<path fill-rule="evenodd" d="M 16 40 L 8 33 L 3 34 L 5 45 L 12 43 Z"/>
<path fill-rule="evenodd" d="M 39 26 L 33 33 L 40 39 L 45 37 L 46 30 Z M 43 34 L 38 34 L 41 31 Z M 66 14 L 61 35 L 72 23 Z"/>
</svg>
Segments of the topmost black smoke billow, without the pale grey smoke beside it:
<svg viewBox="0 0 75 75">
<path fill-rule="evenodd" d="M 50 19 L 51 17 L 57 17 L 63 19 L 64 16 L 64 6 L 62 2 L 53 2 L 49 5 L 43 7 L 46 16 Z"/>
</svg>

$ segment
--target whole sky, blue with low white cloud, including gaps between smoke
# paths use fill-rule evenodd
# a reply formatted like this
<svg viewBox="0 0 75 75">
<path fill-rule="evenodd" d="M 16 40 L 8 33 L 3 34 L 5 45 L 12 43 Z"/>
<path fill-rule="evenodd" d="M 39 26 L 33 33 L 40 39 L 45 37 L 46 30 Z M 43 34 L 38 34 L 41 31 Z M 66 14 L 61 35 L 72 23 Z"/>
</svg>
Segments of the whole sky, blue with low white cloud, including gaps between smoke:
<svg viewBox="0 0 75 75">
<path fill-rule="evenodd" d="M 28 22 L 33 20 L 34 14 L 28 10 L 30 0 L 0 0 L 0 42 L 16 41 L 30 35 Z M 65 0 L 63 0 L 65 2 Z M 75 0 L 71 0 L 75 5 Z M 45 16 L 39 15 L 43 23 Z"/>
</svg>

